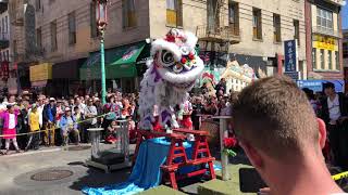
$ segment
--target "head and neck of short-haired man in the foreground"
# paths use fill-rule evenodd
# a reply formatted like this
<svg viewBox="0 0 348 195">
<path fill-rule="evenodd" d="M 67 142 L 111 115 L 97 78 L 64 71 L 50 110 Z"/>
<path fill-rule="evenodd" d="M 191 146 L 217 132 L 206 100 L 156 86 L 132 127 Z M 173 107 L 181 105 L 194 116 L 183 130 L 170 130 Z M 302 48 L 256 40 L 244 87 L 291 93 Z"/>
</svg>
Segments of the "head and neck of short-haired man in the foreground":
<svg viewBox="0 0 348 195">
<path fill-rule="evenodd" d="M 343 193 L 322 154 L 326 128 L 288 77 L 245 88 L 233 107 L 239 145 L 273 195 Z"/>
</svg>

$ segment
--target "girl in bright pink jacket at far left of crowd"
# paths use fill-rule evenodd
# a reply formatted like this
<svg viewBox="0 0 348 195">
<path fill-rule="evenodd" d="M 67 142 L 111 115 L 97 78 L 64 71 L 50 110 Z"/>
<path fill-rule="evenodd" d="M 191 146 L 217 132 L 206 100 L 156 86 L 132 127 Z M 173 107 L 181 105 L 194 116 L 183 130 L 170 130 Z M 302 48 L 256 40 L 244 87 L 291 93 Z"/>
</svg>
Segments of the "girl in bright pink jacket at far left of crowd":
<svg viewBox="0 0 348 195">
<path fill-rule="evenodd" d="M 8 154 L 10 150 L 10 142 L 12 140 L 12 143 L 15 147 L 15 151 L 20 153 L 20 147 L 17 144 L 17 139 L 16 139 L 16 129 L 15 127 L 17 126 L 17 117 L 20 114 L 20 110 L 17 108 L 14 108 L 14 104 L 8 104 L 7 105 L 8 110 L 1 113 L 0 119 L 3 121 L 3 130 L 2 134 L 4 135 L 5 140 L 5 152 L 4 155 Z"/>
</svg>

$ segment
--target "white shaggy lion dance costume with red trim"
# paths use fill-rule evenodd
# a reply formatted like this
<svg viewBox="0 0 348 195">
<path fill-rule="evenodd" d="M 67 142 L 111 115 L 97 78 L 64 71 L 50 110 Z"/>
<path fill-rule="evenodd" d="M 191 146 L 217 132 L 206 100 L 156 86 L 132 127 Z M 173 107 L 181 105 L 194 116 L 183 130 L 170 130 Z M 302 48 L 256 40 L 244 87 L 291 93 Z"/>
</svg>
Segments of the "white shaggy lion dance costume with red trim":
<svg viewBox="0 0 348 195">
<path fill-rule="evenodd" d="M 140 129 L 152 130 L 154 105 L 163 128 L 178 128 L 173 107 L 187 101 L 187 92 L 204 69 L 195 50 L 197 40 L 194 34 L 173 28 L 152 42 L 152 58 L 140 84 Z"/>
</svg>

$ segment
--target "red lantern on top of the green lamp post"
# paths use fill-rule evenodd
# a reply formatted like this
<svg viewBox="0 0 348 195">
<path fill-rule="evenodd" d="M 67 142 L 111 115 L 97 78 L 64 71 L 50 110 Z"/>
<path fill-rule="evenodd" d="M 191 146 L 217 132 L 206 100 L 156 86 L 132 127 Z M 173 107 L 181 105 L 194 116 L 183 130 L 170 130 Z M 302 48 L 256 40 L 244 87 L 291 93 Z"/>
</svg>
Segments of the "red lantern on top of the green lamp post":
<svg viewBox="0 0 348 195">
<path fill-rule="evenodd" d="M 108 0 L 94 0 L 96 3 L 96 21 L 100 31 L 104 30 L 108 25 Z"/>
</svg>

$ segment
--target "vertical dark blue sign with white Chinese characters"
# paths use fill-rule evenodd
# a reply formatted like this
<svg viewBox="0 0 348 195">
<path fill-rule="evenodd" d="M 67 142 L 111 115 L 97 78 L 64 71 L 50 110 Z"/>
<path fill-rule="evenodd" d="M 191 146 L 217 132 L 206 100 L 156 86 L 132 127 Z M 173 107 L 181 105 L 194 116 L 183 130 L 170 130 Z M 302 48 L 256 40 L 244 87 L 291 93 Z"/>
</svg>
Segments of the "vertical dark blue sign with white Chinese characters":
<svg viewBox="0 0 348 195">
<path fill-rule="evenodd" d="M 294 73 L 296 72 L 297 66 L 297 41 L 288 40 L 284 41 L 284 50 L 285 50 L 285 72 Z"/>
</svg>

